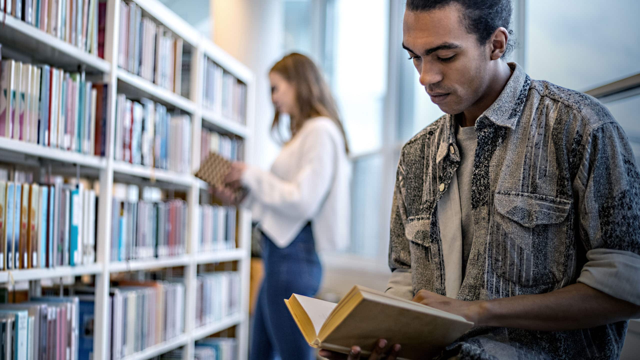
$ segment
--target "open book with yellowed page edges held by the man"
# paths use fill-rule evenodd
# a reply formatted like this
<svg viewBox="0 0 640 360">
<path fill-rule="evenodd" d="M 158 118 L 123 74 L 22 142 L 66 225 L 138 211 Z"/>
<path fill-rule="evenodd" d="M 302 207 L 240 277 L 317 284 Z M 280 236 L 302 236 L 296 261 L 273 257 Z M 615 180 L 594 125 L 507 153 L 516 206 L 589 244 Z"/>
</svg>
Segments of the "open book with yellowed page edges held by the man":
<svg viewBox="0 0 640 360">
<path fill-rule="evenodd" d="M 309 345 L 344 354 L 358 345 L 366 356 L 383 338 L 402 345 L 398 359 L 430 359 L 474 325 L 462 316 L 358 285 L 338 304 L 297 294 L 284 301 Z"/>
</svg>

